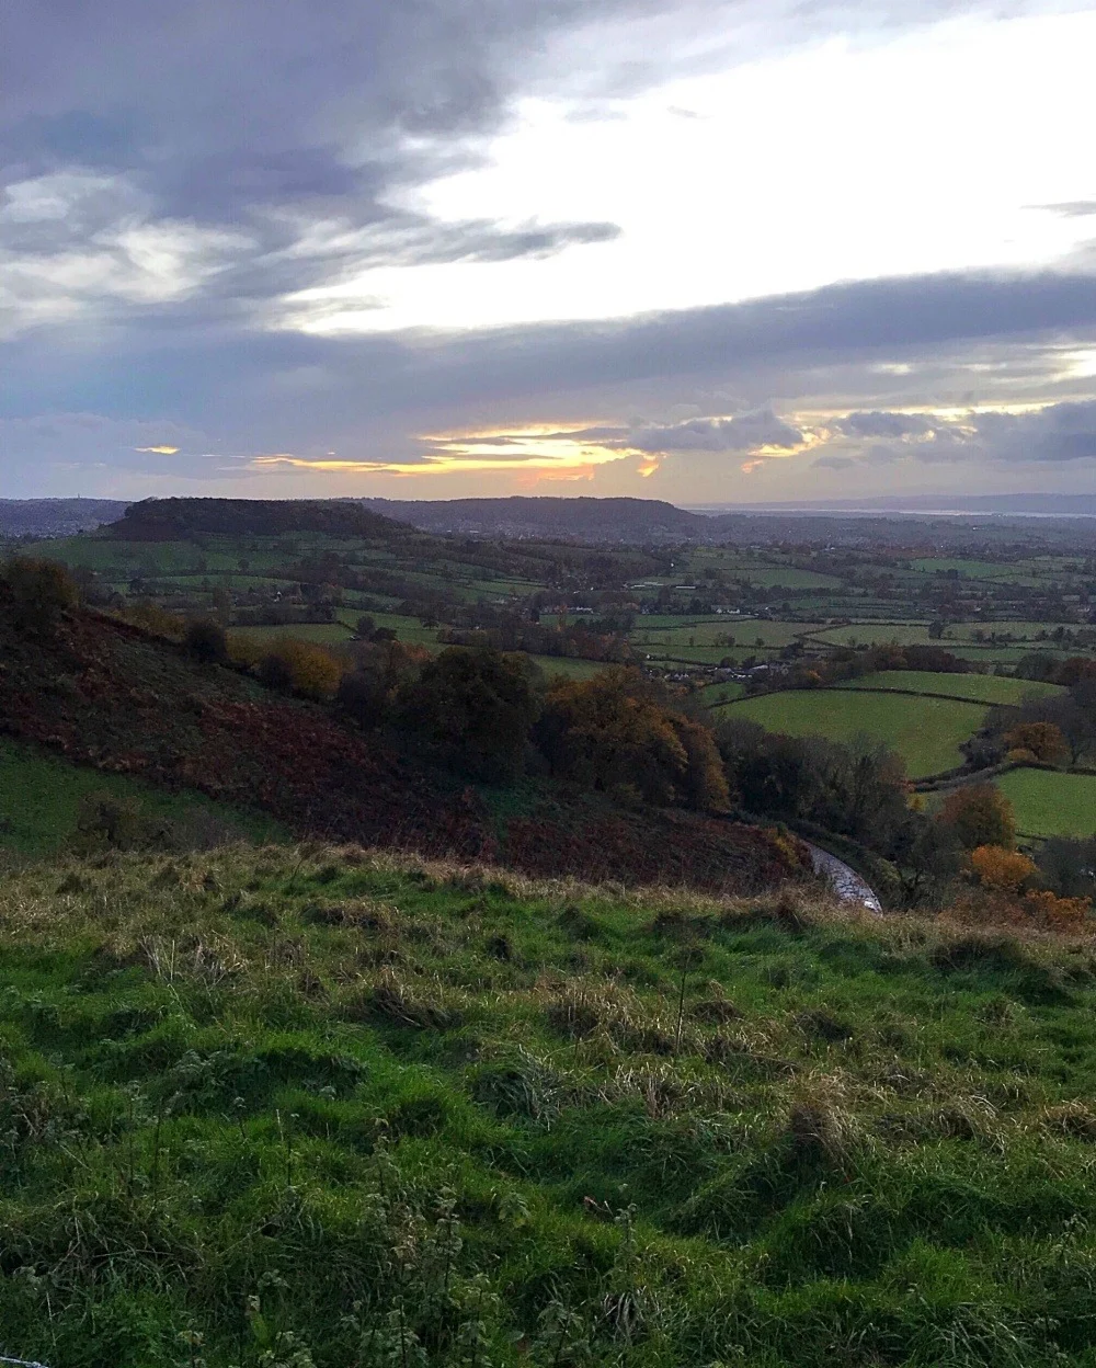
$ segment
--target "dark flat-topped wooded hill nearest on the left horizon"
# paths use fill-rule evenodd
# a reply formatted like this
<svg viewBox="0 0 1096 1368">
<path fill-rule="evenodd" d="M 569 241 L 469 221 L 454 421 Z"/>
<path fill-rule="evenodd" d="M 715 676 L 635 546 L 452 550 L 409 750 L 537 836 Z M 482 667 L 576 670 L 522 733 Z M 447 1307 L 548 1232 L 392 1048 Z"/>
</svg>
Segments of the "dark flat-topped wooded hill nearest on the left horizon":
<svg viewBox="0 0 1096 1368">
<path fill-rule="evenodd" d="M 185 542 L 192 536 L 404 536 L 406 524 L 356 499 L 144 499 L 131 503 L 109 534 L 123 542 Z"/>
</svg>

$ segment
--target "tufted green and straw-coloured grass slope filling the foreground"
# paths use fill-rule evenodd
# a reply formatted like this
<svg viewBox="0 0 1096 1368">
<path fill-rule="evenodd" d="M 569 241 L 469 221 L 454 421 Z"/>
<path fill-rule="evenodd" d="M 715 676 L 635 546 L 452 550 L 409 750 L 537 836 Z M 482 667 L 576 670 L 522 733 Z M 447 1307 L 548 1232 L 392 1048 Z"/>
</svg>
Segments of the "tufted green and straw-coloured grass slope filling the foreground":
<svg viewBox="0 0 1096 1368">
<path fill-rule="evenodd" d="M 0 982 L 0 1353 L 1096 1363 L 1089 944 L 239 848 Z"/>
</svg>

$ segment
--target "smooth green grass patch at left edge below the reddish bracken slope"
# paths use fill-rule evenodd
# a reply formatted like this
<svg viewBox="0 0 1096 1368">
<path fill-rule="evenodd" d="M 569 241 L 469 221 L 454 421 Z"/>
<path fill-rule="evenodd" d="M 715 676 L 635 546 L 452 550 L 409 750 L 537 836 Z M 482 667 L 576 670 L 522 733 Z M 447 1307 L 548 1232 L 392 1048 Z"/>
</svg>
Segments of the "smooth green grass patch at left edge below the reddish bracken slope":
<svg viewBox="0 0 1096 1368">
<path fill-rule="evenodd" d="M 66 850 L 82 804 L 93 795 L 131 803 L 142 818 L 166 824 L 182 844 L 283 836 L 271 817 L 241 813 L 201 793 L 167 793 L 129 776 L 81 769 L 0 737 L 0 850 L 31 858 Z"/>
</svg>

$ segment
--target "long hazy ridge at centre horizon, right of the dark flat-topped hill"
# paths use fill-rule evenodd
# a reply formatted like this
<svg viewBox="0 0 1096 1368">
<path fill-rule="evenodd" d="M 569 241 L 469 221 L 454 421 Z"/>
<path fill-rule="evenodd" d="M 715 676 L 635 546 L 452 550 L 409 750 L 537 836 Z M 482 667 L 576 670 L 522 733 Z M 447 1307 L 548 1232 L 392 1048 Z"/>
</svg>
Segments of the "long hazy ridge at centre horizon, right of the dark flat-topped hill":
<svg viewBox="0 0 1096 1368">
<path fill-rule="evenodd" d="M 662 542 L 703 536 L 710 520 L 661 499 L 525 498 L 363 499 L 365 508 L 427 532 L 576 536 L 587 542 Z"/>
</svg>

